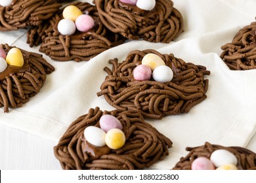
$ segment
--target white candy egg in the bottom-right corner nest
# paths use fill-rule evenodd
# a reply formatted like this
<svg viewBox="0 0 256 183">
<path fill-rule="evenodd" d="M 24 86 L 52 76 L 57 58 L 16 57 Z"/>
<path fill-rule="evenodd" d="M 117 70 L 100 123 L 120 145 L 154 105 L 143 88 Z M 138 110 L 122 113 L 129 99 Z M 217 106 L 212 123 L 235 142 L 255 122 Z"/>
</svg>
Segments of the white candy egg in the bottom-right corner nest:
<svg viewBox="0 0 256 183">
<path fill-rule="evenodd" d="M 223 165 L 229 164 L 236 165 L 238 163 L 238 159 L 236 158 L 236 156 L 234 156 L 234 154 L 232 154 L 228 150 L 224 149 L 215 150 L 211 154 L 210 159 L 215 167 L 221 167 Z"/>
</svg>

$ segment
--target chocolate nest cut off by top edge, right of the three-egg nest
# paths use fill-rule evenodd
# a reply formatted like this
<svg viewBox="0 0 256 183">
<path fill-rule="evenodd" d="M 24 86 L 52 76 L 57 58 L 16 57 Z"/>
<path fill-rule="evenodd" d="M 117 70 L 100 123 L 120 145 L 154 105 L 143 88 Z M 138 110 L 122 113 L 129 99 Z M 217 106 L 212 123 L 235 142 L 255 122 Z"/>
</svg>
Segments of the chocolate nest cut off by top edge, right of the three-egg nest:
<svg viewBox="0 0 256 183">
<path fill-rule="evenodd" d="M 150 42 L 170 42 L 183 31 L 182 15 L 173 7 L 173 1 L 156 0 L 123 3 L 119 0 L 95 0 L 100 20 L 108 29 L 129 39 L 144 39 Z M 144 3 L 153 5 L 152 10 L 143 10 Z M 141 5 L 142 4 L 142 5 Z"/>
</svg>

